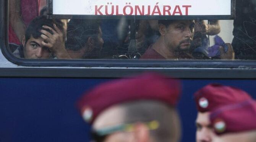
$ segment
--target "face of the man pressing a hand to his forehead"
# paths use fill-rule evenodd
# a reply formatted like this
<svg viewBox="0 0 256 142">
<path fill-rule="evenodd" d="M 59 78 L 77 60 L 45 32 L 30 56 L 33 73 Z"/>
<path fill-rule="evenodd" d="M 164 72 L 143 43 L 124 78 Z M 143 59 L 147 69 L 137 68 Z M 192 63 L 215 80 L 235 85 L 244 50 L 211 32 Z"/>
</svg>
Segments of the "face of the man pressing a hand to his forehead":
<svg viewBox="0 0 256 142">
<path fill-rule="evenodd" d="M 26 44 L 23 40 L 24 57 L 31 59 L 49 58 L 50 50 L 42 45 L 42 41 L 44 41 L 44 39 L 41 37 L 36 39 L 32 35 Z"/>
</svg>

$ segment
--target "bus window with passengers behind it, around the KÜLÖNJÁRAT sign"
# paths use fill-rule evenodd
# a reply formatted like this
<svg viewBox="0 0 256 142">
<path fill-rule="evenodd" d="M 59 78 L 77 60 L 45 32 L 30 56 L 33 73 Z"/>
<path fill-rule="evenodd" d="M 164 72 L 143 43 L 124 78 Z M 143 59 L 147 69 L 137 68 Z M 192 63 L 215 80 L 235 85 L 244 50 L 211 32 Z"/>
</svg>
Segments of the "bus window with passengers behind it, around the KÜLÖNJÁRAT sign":
<svg viewBox="0 0 256 142">
<path fill-rule="evenodd" d="M 254 0 L 237 0 L 234 20 L 52 19 L 46 0 L 9 6 L 9 47 L 18 58 L 256 59 Z"/>
</svg>

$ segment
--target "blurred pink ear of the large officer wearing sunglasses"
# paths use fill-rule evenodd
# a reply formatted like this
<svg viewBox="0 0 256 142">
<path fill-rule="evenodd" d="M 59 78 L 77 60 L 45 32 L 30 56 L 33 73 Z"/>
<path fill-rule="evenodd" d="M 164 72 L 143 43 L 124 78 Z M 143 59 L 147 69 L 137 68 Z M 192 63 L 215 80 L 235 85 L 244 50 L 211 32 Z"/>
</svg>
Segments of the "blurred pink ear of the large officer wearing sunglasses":
<svg viewBox="0 0 256 142">
<path fill-rule="evenodd" d="M 134 128 L 134 141 L 135 142 L 149 142 L 149 129 L 143 123 L 135 124 Z"/>
</svg>

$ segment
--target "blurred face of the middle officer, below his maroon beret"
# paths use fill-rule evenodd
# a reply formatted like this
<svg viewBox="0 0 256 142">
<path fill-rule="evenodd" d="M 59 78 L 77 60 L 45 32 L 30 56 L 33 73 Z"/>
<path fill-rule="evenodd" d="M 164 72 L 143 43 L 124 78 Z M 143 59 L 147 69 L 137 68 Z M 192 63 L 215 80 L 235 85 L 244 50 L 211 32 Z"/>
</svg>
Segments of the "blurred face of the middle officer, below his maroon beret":
<svg viewBox="0 0 256 142">
<path fill-rule="evenodd" d="M 196 118 L 196 142 L 212 142 L 212 137 L 215 136 L 209 115 L 209 112 L 198 112 Z"/>
</svg>

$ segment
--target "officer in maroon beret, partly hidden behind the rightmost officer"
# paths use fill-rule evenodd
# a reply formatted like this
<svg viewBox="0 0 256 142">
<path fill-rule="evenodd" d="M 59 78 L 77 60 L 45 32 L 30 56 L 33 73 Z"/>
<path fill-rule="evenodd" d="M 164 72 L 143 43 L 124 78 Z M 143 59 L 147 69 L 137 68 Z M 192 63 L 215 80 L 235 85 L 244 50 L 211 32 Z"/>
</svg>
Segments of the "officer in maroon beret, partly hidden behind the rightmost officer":
<svg viewBox="0 0 256 142">
<path fill-rule="evenodd" d="M 219 107 L 250 100 L 248 93 L 238 88 L 209 84 L 194 94 L 198 115 L 196 118 L 196 142 L 212 142 L 214 131 L 209 120 L 210 112 Z"/>
</svg>

